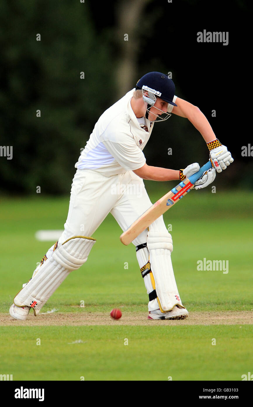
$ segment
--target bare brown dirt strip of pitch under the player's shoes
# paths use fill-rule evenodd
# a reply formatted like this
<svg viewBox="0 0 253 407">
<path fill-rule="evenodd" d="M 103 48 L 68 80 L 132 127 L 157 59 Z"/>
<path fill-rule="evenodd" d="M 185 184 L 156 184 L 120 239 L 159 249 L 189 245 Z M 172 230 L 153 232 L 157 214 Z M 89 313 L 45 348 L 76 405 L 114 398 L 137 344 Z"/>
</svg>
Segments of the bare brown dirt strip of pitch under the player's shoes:
<svg viewBox="0 0 253 407">
<path fill-rule="evenodd" d="M 37 317 L 29 314 L 26 321 L 17 321 L 9 314 L 0 314 L 0 326 L 82 326 L 82 325 L 244 325 L 253 324 L 252 311 L 191 312 L 183 320 L 150 320 L 147 312 L 123 312 L 121 319 L 112 319 L 109 313 L 45 313 Z"/>
</svg>

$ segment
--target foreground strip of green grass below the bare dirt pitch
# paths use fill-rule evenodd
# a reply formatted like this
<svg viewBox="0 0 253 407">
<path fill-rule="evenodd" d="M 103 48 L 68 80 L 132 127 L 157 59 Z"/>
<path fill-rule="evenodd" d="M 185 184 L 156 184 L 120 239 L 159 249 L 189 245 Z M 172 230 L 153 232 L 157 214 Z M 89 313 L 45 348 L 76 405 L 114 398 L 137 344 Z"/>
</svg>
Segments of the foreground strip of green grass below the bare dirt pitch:
<svg viewBox="0 0 253 407">
<path fill-rule="evenodd" d="M 250 325 L 1 328 L 1 372 L 17 381 L 241 381 L 252 362 Z"/>
</svg>

